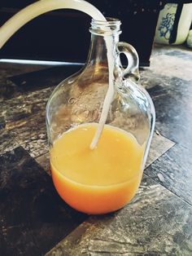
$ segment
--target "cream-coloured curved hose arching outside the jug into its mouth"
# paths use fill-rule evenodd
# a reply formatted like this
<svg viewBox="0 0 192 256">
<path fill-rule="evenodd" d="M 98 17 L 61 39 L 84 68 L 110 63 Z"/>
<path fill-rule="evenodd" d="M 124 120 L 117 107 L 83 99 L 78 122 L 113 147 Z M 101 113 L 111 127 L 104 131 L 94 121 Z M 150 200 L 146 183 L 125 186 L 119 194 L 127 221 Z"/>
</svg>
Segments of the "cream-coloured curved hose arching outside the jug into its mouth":
<svg viewBox="0 0 192 256">
<path fill-rule="evenodd" d="M 0 28 L 0 49 L 7 40 L 11 38 L 17 30 L 23 27 L 24 24 L 28 23 L 28 21 L 33 20 L 38 15 L 46 13 L 47 11 L 58 9 L 78 10 L 90 15 L 94 20 L 106 20 L 96 7 L 83 0 L 40 0 L 25 7 L 2 25 Z"/>
</svg>

